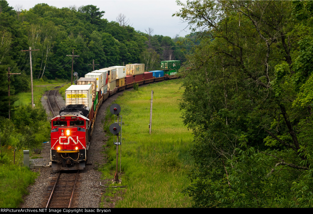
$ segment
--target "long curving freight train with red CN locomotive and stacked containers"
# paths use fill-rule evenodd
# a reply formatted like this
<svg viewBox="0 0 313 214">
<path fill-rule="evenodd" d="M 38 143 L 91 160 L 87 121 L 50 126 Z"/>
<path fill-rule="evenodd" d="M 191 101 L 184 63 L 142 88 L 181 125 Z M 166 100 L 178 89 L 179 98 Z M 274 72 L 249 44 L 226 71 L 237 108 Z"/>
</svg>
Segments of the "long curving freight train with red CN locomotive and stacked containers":
<svg viewBox="0 0 313 214">
<path fill-rule="evenodd" d="M 50 157 L 53 170 L 84 169 L 95 119 L 101 104 L 116 92 L 166 79 L 162 71 L 144 72 L 144 64 L 92 71 L 65 90 L 66 106 L 51 119 Z M 171 72 L 170 74 L 173 74 Z"/>
</svg>

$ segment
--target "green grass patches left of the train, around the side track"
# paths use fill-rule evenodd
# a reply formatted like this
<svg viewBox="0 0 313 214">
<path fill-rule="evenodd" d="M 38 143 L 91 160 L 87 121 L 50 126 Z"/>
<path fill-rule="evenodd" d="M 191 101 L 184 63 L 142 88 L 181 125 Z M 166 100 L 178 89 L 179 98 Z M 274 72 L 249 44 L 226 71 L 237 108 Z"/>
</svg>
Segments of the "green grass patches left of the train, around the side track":
<svg viewBox="0 0 313 214">
<path fill-rule="evenodd" d="M 33 82 L 34 103 L 36 108 L 42 108 L 40 99 L 42 95 L 53 89 L 58 85 L 63 85 L 64 80 L 49 80 Z M 46 85 L 46 86 L 43 86 Z M 31 92 L 22 92 L 16 95 L 18 100 L 14 106 L 31 104 Z M 49 121 L 47 121 L 49 126 Z M 49 139 L 47 139 L 49 140 Z M 27 193 L 27 187 L 34 182 L 37 174 L 23 167 L 23 150 L 19 149 L 15 153 L 15 165 L 13 164 L 14 148 L 11 145 L 6 145 L 0 151 L 0 207 L 19 207 L 23 202 L 23 195 Z M 38 155 L 32 154 L 31 148 L 24 148 L 30 150 L 31 158 L 38 158 Z M 39 155 L 40 156 L 40 155 Z"/>
</svg>

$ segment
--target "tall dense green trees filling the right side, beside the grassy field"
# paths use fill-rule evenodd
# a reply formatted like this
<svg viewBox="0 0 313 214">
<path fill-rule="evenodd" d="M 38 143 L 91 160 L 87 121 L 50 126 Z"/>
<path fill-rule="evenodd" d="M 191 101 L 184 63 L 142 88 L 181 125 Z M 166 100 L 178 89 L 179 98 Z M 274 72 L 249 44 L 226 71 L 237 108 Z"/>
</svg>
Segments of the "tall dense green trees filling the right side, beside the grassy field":
<svg viewBox="0 0 313 214">
<path fill-rule="evenodd" d="M 195 207 L 313 207 L 313 2 L 187 1 Z M 189 69 L 187 69 L 189 68 Z"/>
</svg>

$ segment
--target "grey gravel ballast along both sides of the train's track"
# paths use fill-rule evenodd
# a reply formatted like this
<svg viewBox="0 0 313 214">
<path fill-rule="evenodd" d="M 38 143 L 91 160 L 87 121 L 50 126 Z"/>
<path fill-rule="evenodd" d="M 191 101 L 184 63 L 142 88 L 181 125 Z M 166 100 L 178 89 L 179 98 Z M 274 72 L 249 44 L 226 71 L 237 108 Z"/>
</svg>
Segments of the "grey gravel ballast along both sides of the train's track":
<svg viewBox="0 0 313 214">
<path fill-rule="evenodd" d="M 100 207 L 101 195 L 104 190 L 100 187 L 100 182 L 105 183 L 101 180 L 101 172 L 97 169 L 106 163 L 106 158 L 104 157 L 104 147 L 108 136 L 103 132 L 103 122 L 106 114 L 106 108 L 112 104 L 112 102 L 123 92 L 116 93 L 105 100 L 99 108 L 97 119 L 95 121 L 94 132 L 90 141 L 90 149 L 87 153 L 87 165 L 84 170 L 80 173 L 80 180 L 82 181 L 80 186 L 76 191 L 80 192 L 80 197 L 78 204 L 79 207 L 97 208 Z M 41 101 L 46 109 L 48 118 L 51 119 L 53 115 L 49 111 L 49 104 L 47 101 L 47 93 L 42 97 Z M 58 94 L 57 100 L 60 107 L 65 107 L 65 102 L 63 98 Z M 103 122 L 102 122 L 103 121 Z M 50 142 L 44 143 L 40 156 L 40 159 L 32 159 L 31 162 L 34 165 L 46 165 L 50 162 Z M 23 208 L 36 208 L 41 206 L 41 202 L 44 193 L 47 190 L 50 179 L 56 174 L 51 168 L 33 169 L 33 171 L 38 172 L 39 176 L 32 186 L 28 187 L 29 195 L 24 198 L 24 203 L 21 205 Z M 121 200 L 121 198 L 116 198 L 113 201 Z M 115 202 L 108 204 L 108 207 L 114 207 Z M 106 205 L 105 205 L 106 206 Z"/>
</svg>

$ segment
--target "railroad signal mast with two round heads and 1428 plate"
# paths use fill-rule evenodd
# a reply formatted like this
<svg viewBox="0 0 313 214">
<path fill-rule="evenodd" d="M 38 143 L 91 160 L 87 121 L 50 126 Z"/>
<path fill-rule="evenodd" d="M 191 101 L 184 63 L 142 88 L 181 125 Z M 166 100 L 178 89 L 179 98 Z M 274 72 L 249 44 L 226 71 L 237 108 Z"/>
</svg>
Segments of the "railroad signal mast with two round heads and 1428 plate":
<svg viewBox="0 0 313 214">
<path fill-rule="evenodd" d="M 110 112 L 114 114 L 114 123 L 111 124 L 109 130 L 113 134 L 113 143 L 116 145 L 116 170 L 114 179 L 112 180 L 113 183 L 121 183 L 121 181 L 118 178 L 118 146 L 121 145 L 121 151 L 120 151 L 120 173 L 121 173 L 121 152 L 122 152 L 122 116 L 120 115 L 121 107 L 118 104 L 113 104 L 110 106 Z M 116 122 L 117 121 L 117 122 Z M 116 136 L 116 141 L 115 141 Z"/>
</svg>

